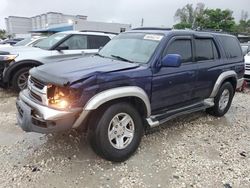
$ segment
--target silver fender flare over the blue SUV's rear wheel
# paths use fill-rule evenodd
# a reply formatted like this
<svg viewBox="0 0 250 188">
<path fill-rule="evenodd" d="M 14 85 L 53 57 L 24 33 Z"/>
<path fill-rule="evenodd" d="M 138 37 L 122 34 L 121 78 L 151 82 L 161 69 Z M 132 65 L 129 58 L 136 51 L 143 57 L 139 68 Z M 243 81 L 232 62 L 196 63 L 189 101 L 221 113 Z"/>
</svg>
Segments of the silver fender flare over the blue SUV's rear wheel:
<svg viewBox="0 0 250 188">
<path fill-rule="evenodd" d="M 214 98 L 217 95 L 223 81 L 230 77 L 234 77 L 237 80 L 236 72 L 231 70 L 221 73 L 221 75 L 218 77 L 217 81 L 214 84 L 213 91 L 209 98 Z"/>
</svg>

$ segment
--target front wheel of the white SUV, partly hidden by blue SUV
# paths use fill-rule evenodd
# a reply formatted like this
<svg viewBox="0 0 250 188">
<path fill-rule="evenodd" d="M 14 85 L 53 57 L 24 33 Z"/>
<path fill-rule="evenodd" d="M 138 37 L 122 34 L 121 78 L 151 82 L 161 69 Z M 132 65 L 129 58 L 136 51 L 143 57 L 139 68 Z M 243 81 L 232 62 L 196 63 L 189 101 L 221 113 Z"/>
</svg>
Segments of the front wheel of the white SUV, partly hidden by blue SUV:
<svg viewBox="0 0 250 188">
<path fill-rule="evenodd" d="M 12 87 L 16 92 L 19 92 L 27 87 L 27 81 L 28 81 L 30 69 L 31 67 L 21 68 L 14 74 L 13 79 L 12 79 Z M 24 81 L 25 77 L 26 77 L 26 82 L 22 82 L 22 80 Z"/>
</svg>

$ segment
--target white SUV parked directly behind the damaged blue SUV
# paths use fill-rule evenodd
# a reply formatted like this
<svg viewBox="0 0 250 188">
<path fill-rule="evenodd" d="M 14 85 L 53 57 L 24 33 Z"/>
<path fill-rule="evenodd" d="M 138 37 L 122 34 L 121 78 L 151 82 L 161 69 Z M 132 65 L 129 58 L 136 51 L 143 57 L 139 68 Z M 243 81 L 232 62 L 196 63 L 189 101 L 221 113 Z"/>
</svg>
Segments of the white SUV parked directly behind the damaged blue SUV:
<svg viewBox="0 0 250 188">
<path fill-rule="evenodd" d="M 67 31 L 56 33 L 33 47 L 0 49 L 0 85 L 15 91 L 27 87 L 33 67 L 95 54 L 115 35 L 102 32 Z"/>
</svg>

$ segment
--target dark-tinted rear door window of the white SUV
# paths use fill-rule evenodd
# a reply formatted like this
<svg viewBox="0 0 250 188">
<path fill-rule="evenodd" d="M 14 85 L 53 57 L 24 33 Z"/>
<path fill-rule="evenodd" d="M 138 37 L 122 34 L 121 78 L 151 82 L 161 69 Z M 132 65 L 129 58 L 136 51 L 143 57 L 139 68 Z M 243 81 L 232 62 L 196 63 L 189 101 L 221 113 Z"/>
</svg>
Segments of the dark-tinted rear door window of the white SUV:
<svg viewBox="0 0 250 188">
<path fill-rule="evenodd" d="M 99 49 L 110 41 L 108 36 L 89 35 L 89 49 Z"/>
</svg>

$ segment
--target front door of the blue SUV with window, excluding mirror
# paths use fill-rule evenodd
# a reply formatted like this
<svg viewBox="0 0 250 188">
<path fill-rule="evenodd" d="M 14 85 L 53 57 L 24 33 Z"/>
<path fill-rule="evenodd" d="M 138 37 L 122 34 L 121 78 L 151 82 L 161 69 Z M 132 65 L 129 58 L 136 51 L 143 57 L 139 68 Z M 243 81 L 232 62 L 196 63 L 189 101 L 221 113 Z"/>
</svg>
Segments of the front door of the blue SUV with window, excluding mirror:
<svg viewBox="0 0 250 188">
<path fill-rule="evenodd" d="M 192 37 L 176 36 L 168 42 L 162 57 L 179 54 L 180 67 L 161 67 L 153 74 L 152 109 L 153 113 L 171 110 L 193 103 L 197 66 L 193 62 Z"/>
</svg>

